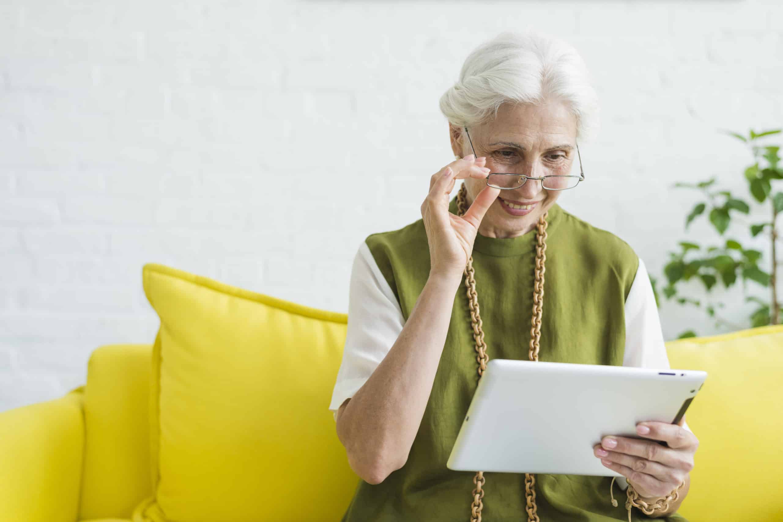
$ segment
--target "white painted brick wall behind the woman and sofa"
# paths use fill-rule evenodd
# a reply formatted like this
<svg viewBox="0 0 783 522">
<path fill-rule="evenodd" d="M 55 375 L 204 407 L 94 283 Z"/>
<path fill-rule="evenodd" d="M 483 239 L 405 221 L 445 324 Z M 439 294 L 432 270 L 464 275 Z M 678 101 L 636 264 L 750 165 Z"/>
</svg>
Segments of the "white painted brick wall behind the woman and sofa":
<svg viewBox="0 0 783 522">
<path fill-rule="evenodd" d="M 781 17 L 751 0 L 5 0 L 0 410 L 83 383 L 99 345 L 153 341 L 143 263 L 345 312 L 359 243 L 419 219 L 453 159 L 439 96 L 500 30 L 582 52 L 603 125 L 561 205 L 660 276 L 677 241 L 715 235 L 684 233 L 696 200 L 675 181 L 749 197 L 749 152 L 719 129 L 783 124 Z M 718 331 L 661 317 L 666 338 Z"/>
</svg>

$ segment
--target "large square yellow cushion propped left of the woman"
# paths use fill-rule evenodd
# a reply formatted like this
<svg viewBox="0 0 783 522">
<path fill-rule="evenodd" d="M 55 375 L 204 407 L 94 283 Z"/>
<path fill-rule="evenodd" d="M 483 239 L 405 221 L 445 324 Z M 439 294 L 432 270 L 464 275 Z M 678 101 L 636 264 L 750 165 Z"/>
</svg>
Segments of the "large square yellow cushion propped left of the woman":
<svg viewBox="0 0 783 522">
<path fill-rule="evenodd" d="M 157 264 L 153 498 L 135 522 L 338 520 L 358 478 L 329 401 L 347 316 Z"/>
</svg>

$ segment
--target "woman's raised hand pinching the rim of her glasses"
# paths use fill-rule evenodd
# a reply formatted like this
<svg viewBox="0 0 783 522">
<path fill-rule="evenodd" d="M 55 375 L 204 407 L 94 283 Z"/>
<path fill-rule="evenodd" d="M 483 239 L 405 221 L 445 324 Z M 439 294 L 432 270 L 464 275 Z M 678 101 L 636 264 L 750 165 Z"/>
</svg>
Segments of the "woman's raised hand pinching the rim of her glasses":
<svg viewBox="0 0 783 522">
<path fill-rule="evenodd" d="M 500 189 L 485 186 L 464 216 L 449 212 L 449 196 L 458 179 L 485 179 L 489 175 L 485 163 L 484 156 L 474 158 L 470 154 L 449 163 L 430 178 L 430 192 L 421 204 L 421 217 L 430 248 L 430 274 L 462 277 L 467 259 L 473 252 L 478 225 L 500 194 Z"/>
</svg>

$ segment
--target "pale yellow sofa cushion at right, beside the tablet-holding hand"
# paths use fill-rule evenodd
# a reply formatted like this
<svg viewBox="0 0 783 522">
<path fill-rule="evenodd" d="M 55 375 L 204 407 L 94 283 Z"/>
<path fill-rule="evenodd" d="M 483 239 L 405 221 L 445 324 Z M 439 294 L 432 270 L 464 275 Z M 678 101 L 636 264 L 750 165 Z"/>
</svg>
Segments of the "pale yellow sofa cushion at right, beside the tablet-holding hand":
<svg viewBox="0 0 783 522">
<path fill-rule="evenodd" d="M 690 520 L 783 520 L 783 326 L 667 343 L 673 368 L 709 373 L 686 414 L 699 438 Z"/>
</svg>

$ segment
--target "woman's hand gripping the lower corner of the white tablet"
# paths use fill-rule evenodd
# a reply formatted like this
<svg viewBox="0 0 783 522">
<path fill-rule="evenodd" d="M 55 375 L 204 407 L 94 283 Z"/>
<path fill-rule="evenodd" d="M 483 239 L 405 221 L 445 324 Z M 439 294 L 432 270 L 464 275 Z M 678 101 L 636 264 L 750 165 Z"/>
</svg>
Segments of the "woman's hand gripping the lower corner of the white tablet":
<svg viewBox="0 0 783 522">
<path fill-rule="evenodd" d="M 681 425 L 665 422 L 639 423 L 637 434 L 650 440 L 604 437 L 593 453 L 605 467 L 626 477 L 642 497 L 669 495 L 693 469 L 698 439 Z"/>
</svg>

